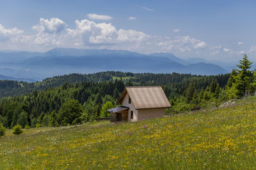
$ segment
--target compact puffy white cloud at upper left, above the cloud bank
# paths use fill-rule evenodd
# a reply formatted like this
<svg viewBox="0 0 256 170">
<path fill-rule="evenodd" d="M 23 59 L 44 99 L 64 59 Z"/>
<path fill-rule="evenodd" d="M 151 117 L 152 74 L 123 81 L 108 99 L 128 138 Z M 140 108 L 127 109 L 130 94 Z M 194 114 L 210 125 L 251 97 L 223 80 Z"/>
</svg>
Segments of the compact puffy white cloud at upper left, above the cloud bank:
<svg viewBox="0 0 256 170">
<path fill-rule="evenodd" d="M 32 28 L 38 32 L 56 33 L 61 32 L 66 24 L 59 18 L 51 18 L 50 20 L 40 18 L 39 24 L 34 25 Z"/>
</svg>

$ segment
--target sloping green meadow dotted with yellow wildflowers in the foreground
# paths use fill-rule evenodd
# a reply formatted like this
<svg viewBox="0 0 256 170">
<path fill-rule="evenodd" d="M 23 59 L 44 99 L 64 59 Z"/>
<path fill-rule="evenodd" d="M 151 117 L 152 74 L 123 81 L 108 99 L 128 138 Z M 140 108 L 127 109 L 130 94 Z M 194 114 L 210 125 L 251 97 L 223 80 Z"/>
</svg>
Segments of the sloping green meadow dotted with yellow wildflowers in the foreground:
<svg viewBox="0 0 256 170">
<path fill-rule="evenodd" d="M 0 169 L 255 169 L 255 102 L 134 123 L 8 130 Z"/>
</svg>

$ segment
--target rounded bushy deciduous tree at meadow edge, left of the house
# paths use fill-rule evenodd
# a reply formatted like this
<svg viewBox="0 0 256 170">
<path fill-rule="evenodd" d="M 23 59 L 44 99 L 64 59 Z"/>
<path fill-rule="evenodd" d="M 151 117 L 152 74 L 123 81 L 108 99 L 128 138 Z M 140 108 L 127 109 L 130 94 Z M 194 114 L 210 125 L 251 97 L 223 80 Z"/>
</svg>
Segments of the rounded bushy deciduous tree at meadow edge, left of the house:
<svg viewBox="0 0 256 170">
<path fill-rule="evenodd" d="M 78 124 L 81 123 L 79 117 L 83 113 L 83 107 L 77 100 L 70 100 L 62 104 L 57 115 L 58 124 Z"/>
</svg>

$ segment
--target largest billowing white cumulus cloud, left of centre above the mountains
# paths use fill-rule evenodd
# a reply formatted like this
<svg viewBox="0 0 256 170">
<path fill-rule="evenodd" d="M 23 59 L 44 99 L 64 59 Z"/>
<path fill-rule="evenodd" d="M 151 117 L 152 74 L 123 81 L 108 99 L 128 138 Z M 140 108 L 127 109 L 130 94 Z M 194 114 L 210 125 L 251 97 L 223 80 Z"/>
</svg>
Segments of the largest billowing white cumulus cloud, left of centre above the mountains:
<svg viewBox="0 0 256 170">
<path fill-rule="evenodd" d="M 124 42 L 140 42 L 148 36 L 134 30 L 117 30 L 113 25 L 76 20 L 76 29 L 67 29 L 67 36 L 76 39 L 79 45 L 116 45 Z"/>
</svg>

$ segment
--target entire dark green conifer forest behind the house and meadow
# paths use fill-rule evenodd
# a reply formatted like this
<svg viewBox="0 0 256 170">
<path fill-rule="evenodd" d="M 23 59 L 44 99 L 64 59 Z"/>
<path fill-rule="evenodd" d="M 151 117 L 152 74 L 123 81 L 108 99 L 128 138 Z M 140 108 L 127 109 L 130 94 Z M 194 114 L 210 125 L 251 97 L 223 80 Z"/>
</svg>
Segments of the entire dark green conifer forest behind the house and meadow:
<svg viewBox="0 0 256 170">
<path fill-rule="evenodd" d="M 125 86 L 161 85 L 172 108 L 180 113 L 221 103 L 255 92 L 255 71 L 244 55 L 230 74 L 122 73 L 68 74 L 40 82 L 0 81 L 0 124 L 12 128 L 73 125 L 109 117 L 108 110 Z"/>
</svg>

